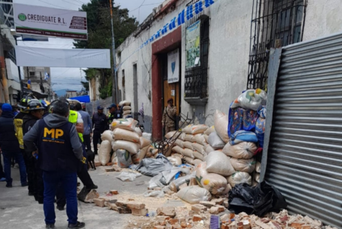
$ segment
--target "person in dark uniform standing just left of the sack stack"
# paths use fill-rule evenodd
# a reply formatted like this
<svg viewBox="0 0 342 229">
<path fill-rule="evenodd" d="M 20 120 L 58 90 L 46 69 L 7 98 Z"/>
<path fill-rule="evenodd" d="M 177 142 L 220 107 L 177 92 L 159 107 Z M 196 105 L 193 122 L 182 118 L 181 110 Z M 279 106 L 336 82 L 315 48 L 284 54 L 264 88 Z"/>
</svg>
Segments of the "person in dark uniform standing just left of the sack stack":
<svg viewBox="0 0 342 229">
<path fill-rule="evenodd" d="M 97 154 L 98 141 L 101 143 L 101 134 L 108 130 L 107 116 L 103 114 L 103 107 L 98 106 L 97 112 L 92 116 L 92 127 L 94 128 L 94 134 L 92 137 L 92 143 L 94 144 L 94 154 Z"/>
</svg>

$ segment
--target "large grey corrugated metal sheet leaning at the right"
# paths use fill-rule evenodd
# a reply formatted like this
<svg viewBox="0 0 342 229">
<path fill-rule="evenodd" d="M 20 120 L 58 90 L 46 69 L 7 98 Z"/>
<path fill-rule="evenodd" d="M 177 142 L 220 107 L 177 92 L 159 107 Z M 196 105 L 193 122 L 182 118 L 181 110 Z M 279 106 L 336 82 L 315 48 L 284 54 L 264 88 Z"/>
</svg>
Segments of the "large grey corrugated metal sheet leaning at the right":
<svg viewBox="0 0 342 229">
<path fill-rule="evenodd" d="M 342 34 L 273 50 L 261 179 L 342 228 Z"/>
</svg>

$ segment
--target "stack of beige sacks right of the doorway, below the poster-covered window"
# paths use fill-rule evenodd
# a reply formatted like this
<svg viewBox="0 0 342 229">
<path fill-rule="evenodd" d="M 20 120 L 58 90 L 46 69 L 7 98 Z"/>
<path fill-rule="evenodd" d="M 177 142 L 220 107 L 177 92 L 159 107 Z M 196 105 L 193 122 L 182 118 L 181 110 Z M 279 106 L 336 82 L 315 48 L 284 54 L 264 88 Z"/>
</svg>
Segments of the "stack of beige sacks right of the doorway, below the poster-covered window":
<svg viewBox="0 0 342 229">
<path fill-rule="evenodd" d="M 187 125 L 183 134 L 175 142 L 173 152 L 183 155 L 183 160 L 191 165 L 198 165 L 207 156 L 204 147 L 207 145 L 205 134 L 207 125 Z M 183 139 L 183 140 L 182 140 Z M 182 147 L 183 146 L 183 147 Z"/>
</svg>

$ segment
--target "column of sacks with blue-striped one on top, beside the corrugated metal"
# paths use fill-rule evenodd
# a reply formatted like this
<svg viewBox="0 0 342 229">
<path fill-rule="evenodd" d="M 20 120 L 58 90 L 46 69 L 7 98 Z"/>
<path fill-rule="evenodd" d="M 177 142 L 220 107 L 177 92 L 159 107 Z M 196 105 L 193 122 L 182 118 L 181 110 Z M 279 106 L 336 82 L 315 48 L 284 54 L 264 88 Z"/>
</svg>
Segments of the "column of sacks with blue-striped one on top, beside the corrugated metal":
<svg viewBox="0 0 342 229">
<path fill-rule="evenodd" d="M 227 178 L 231 186 L 247 183 L 252 185 L 251 173 L 255 169 L 254 154 L 257 152 L 257 136 L 253 132 L 239 130 L 231 135 L 231 141 L 226 144 L 222 152 L 231 157 L 231 165 L 235 173 Z"/>
</svg>

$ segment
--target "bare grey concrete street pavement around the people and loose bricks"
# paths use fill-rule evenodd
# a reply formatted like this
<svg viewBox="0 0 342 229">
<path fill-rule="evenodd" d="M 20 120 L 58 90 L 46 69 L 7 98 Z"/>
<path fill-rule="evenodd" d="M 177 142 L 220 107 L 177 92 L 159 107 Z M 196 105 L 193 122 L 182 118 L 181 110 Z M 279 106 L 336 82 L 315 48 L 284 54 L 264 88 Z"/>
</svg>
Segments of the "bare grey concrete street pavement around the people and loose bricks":
<svg viewBox="0 0 342 229">
<path fill-rule="evenodd" d="M 118 199 L 129 196 L 142 196 L 147 190 L 149 177 L 142 176 L 134 182 L 122 182 L 115 178 L 117 172 L 105 172 L 105 167 L 97 167 L 96 171 L 90 171 L 94 183 L 98 185 L 100 196 L 105 192 L 116 189 L 119 191 Z M 13 188 L 5 187 L 5 182 L 0 182 L 0 228 L 45 228 L 44 211 L 42 204 L 38 204 L 34 197 L 28 196 L 27 187 L 21 187 L 19 169 L 12 169 Z M 81 185 L 82 187 L 82 185 Z M 81 188 L 79 187 L 79 188 Z M 153 201 L 153 200 L 151 200 Z M 114 210 L 100 208 L 94 204 L 79 202 L 79 221 L 86 223 L 86 228 L 112 228 L 121 229 L 132 219 L 132 215 L 121 215 Z M 55 228 L 67 228 L 66 211 L 56 209 Z"/>
</svg>

